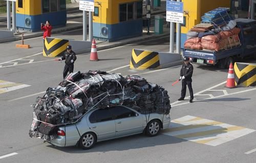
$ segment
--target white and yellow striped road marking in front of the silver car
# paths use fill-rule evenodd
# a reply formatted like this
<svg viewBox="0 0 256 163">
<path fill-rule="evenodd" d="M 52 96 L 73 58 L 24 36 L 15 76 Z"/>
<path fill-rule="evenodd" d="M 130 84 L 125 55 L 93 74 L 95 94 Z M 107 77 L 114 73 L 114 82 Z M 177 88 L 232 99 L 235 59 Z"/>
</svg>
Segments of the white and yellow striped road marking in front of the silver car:
<svg viewBox="0 0 256 163">
<path fill-rule="evenodd" d="M 223 122 L 184 116 L 171 121 L 163 134 L 187 141 L 217 146 L 252 133 L 255 130 Z"/>
</svg>

